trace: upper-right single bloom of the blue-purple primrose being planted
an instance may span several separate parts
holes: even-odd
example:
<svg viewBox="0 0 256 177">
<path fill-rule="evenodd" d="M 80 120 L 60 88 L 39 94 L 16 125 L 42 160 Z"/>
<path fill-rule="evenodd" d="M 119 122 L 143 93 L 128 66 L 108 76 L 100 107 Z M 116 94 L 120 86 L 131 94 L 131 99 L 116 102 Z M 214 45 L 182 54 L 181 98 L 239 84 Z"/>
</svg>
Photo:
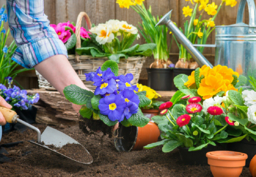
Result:
<svg viewBox="0 0 256 177">
<path fill-rule="evenodd" d="M 131 85 L 132 79 L 134 79 L 134 75 L 132 75 L 131 73 L 126 74 L 126 76 L 124 75 L 119 76 L 119 80 L 120 80 L 118 82 L 119 91 L 124 89 L 138 91 L 139 88 L 137 88 L 136 85 Z"/>
</svg>

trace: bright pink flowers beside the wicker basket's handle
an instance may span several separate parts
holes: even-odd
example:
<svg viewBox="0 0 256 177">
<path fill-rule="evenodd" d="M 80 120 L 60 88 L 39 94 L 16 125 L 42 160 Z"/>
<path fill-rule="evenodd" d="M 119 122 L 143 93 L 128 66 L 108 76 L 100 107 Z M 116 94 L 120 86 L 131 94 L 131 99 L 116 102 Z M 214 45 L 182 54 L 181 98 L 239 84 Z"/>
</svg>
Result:
<svg viewBox="0 0 256 177">
<path fill-rule="evenodd" d="M 58 37 L 60 40 L 62 40 L 63 43 L 66 43 L 67 40 L 71 37 L 71 34 L 74 34 L 76 32 L 76 26 L 74 23 L 70 23 L 67 21 L 66 23 L 58 23 L 58 25 L 51 24 L 52 28 L 54 28 L 56 34 L 58 34 Z M 67 29 L 68 27 L 68 29 Z M 80 28 L 80 36 L 84 39 L 90 38 L 89 37 L 90 32 L 87 32 L 84 27 Z"/>
</svg>

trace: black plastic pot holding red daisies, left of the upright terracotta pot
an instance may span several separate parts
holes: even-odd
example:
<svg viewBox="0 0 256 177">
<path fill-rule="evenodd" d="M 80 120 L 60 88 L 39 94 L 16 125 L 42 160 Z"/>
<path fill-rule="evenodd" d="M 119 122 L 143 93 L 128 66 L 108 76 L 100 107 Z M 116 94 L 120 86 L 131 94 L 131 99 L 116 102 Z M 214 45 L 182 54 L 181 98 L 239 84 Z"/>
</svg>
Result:
<svg viewBox="0 0 256 177">
<path fill-rule="evenodd" d="M 189 151 L 187 147 L 179 147 L 178 149 L 180 150 L 180 158 L 185 165 L 208 165 L 207 152 L 225 150 L 221 145 L 207 145 L 200 151 Z"/>
</svg>

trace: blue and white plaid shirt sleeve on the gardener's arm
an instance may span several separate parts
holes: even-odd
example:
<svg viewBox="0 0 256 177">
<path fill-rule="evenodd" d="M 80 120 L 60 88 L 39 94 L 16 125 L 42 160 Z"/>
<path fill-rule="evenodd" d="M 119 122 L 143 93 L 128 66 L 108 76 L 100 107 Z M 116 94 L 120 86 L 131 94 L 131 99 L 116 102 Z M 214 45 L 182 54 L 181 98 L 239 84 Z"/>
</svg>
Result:
<svg viewBox="0 0 256 177">
<path fill-rule="evenodd" d="M 7 0 L 9 28 L 17 49 L 12 60 L 25 68 L 55 56 L 67 56 L 64 43 L 44 14 L 43 0 Z"/>
</svg>

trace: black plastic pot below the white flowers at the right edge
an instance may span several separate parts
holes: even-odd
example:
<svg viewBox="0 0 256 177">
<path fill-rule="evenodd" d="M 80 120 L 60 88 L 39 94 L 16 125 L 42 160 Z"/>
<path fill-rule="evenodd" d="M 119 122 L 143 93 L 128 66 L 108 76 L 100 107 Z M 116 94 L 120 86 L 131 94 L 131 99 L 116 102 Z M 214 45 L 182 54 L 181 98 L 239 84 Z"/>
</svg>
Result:
<svg viewBox="0 0 256 177">
<path fill-rule="evenodd" d="M 249 167 L 251 159 L 256 155 L 256 141 L 248 141 L 244 139 L 235 143 L 227 143 L 226 149 L 227 151 L 242 152 L 247 154 L 248 158 L 246 159 L 246 167 Z"/>
</svg>

